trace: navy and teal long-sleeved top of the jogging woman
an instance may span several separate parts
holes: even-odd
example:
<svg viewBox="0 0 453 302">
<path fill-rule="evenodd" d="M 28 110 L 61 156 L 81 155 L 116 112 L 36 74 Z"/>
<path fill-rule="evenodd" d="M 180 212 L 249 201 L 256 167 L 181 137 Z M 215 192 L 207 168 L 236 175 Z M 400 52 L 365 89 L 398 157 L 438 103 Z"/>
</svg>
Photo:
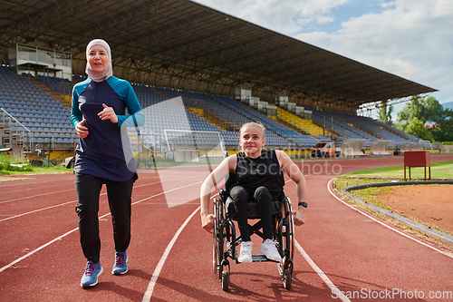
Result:
<svg viewBox="0 0 453 302">
<path fill-rule="evenodd" d="M 118 123 L 101 120 L 98 113 L 103 110 L 102 103 L 113 108 Z M 127 127 L 142 126 L 145 117 L 130 83 L 111 76 L 99 83 L 87 79 L 75 84 L 72 125 L 83 119 L 89 134 L 77 145 L 74 172 L 114 181 L 130 180 L 132 176 L 137 179 Z"/>
</svg>

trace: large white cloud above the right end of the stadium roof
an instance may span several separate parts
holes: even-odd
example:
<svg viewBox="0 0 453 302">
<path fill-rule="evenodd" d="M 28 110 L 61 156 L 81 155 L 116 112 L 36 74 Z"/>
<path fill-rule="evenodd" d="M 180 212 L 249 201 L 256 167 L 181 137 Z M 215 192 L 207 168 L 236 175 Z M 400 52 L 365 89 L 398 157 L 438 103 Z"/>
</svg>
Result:
<svg viewBox="0 0 453 302">
<path fill-rule="evenodd" d="M 438 89 L 439 102 L 453 101 L 453 2 L 396 0 L 385 7 L 343 22 L 333 34 L 295 38 Z"/>
</svg>

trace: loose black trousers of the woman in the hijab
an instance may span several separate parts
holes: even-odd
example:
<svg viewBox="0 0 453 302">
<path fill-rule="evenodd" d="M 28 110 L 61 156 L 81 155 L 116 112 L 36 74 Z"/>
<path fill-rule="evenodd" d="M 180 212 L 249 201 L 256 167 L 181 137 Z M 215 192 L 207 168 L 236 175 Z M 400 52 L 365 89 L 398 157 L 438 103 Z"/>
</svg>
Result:
<svg viewBox="0 0 453 302">
<path fill-rule="evenodd" d="M 123 182 L 104 180 L 88 174 L 75 173 L 75 190 L 79 203 L 75 211 L 79 215 L 79 233 L 83 255 L 87 260 L 99 262 L 101 239 L 99 238 L 99 195 L 106 184 L 115 250 L 123 252 L 130 243 L 131 195 L 133 177 Z"/>
</svg>

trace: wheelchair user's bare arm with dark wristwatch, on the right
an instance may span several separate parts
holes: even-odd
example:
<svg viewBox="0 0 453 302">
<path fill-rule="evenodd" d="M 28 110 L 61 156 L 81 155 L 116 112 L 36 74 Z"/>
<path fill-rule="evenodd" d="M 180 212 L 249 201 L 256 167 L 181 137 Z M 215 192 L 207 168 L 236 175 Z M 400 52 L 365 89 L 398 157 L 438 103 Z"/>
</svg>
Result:
<svg viewBox="0 0 453 302">
<path fill-rule="evenodd" d="M 276 150 L 275 153 L 277 154 L 278 162 L 280 162 L 280 166 L 282 170 L 288 176 L 294 180 L 295 188 L 297 191 L 297 199 L 298 202 L 306 201 L 306 191 L 307 191 L 307 184 L 304 178 L 304 174 L 302 174 L 301 170 L 295 165 L 293 161 L 289 158 L 289 156 L 284 151 Z M 297 210 L 293 210 L 292 214 L 294 215 L 294 223 L 296 226 L 303 225 L 305 222 L 305 208 L 303 206 L 298 206 Z"/>
</svg>

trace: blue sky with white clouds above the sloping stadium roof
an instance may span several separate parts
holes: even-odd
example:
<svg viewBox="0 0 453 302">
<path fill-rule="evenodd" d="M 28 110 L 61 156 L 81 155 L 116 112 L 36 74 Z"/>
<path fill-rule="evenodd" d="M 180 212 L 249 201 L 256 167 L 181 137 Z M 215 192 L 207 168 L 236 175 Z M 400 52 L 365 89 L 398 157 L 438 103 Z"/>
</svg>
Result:
<svg viewBox="0 0 453 302">
<path fill-rule="evenodd" d="M 437 89 L 429 95 L 453 102 L 453 0 L 195 2 Z M 403 107 L 394 105 L 393 120 Z"/>
</svg>

